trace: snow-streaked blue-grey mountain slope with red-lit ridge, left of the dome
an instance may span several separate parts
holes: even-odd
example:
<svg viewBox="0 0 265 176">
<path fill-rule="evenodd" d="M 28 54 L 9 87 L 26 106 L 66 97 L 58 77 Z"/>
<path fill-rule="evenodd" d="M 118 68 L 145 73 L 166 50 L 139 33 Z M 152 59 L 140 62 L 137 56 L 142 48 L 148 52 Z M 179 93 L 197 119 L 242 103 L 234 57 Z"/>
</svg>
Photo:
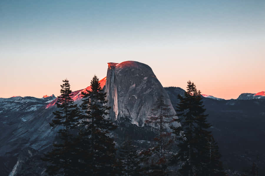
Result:
<svg viewBox="0 0 265 176">
<path fill-rule="evenodd" d="M 102 87 L 105 82 L 106 78 L 100 81 Z M 80 103 L 82 91 L 85 89 L 72 92 L 75 102 Z M 50 150 L 56 141 L 56 129 L 49 125 L 54 118 L 52 112 L 56 111 L 56 101 L 54 95 L 0 98 L 1 175 L 45 174 L 40 155 Z"/>
</svg>

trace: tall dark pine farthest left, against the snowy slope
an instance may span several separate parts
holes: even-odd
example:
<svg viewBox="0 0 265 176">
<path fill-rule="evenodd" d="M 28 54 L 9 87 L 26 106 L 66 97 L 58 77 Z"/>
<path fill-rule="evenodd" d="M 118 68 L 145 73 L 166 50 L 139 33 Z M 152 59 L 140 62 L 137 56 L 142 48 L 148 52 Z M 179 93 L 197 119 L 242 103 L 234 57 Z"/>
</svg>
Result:
<svg viewBox="0 0 265 176">
<path fill-rule="evenodd" d="M 61 95 L 57 99 L 57 111 L 53 112 L 54 120 L 50 123 L 53 128 L 59 128 L 61 141 L 54 143 L 53 150 L 45 154 L 43 161 L 48 162 L 46 172 L 48 175 L 75 175 L 73 136 L 70 130 L 77 128 L 79 110 L 71 98 L 72 91 L 67 79 L 61 85 Z"/>
</svg>

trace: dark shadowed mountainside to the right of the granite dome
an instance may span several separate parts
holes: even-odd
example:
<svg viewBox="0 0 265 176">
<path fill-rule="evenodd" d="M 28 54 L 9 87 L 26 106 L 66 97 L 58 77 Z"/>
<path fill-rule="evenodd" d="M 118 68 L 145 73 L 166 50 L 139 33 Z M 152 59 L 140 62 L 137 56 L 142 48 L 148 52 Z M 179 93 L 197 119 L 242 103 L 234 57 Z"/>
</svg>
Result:
<svg viewBox="0 0 265 176">
<path fill-rule="evenodd" d="M 179 87 L 166 87 L 165 90 L 176 107 L 177 95 L 184 90 Z M 265 165 L 265 99 L 219 101 L 203 97 L 203 105 L 226 169 L 251 170 L 251 163 L 256 162 L 257 156 L 260 165 Z M 259 172 L 265 175 L 265 167 L 260 167 Z"/>
</svg>

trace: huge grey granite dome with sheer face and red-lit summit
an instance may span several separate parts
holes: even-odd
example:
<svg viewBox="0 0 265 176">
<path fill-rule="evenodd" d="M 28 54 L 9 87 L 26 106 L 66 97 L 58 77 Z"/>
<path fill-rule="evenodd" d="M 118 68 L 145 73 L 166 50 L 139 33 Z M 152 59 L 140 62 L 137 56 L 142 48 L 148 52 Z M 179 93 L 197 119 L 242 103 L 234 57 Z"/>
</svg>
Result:
<svg viewBox="0 0 265 176">
<path fill-rule="evenodd" d="M 154 112 L 152 109 L 160 94 L 164 95 L 165 104 L 169 105 L 168 115 L 176 114 L 167 92 L 152 69 L 140 62 L 108 63 L 105 91 L 108 106 L 111 106 L 109 117 L 113 120 L 127 117 L 131 123 L 144 126 L 145 120 Z"/>
</svg>

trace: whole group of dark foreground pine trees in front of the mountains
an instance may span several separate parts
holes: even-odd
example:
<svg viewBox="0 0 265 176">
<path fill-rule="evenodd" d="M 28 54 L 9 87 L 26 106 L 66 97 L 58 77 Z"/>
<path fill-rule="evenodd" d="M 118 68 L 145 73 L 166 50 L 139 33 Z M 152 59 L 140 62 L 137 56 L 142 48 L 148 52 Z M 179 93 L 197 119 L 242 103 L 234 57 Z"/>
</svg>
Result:
<svg viewBox="0 0 265 176">
<path fill-rule="evenodd" d="M 145 121 L 158 131 L 153 143 L 141 150 L 129 136 L 121 146 L 115 145 L 113 131 L 118 125 L 105 118 L 110 107 L 97 76 L 91 80 L 91 90 L 82 92 L 80 106 L 71 98 L 67 79 L 61 87 L 50 123 L 58 129 L 60 140 L 42 158 L 47 175 L 225 175 L 201 92 L 193 82 L 188 81 L 187 92 L 179 95 L 178 119 L 168 115 L 169 105 L 160 94 L 152 116 Z M 181 126 L 171 125 L 169 130 L 167 126 L 174 121 Z"/>
</svg>

